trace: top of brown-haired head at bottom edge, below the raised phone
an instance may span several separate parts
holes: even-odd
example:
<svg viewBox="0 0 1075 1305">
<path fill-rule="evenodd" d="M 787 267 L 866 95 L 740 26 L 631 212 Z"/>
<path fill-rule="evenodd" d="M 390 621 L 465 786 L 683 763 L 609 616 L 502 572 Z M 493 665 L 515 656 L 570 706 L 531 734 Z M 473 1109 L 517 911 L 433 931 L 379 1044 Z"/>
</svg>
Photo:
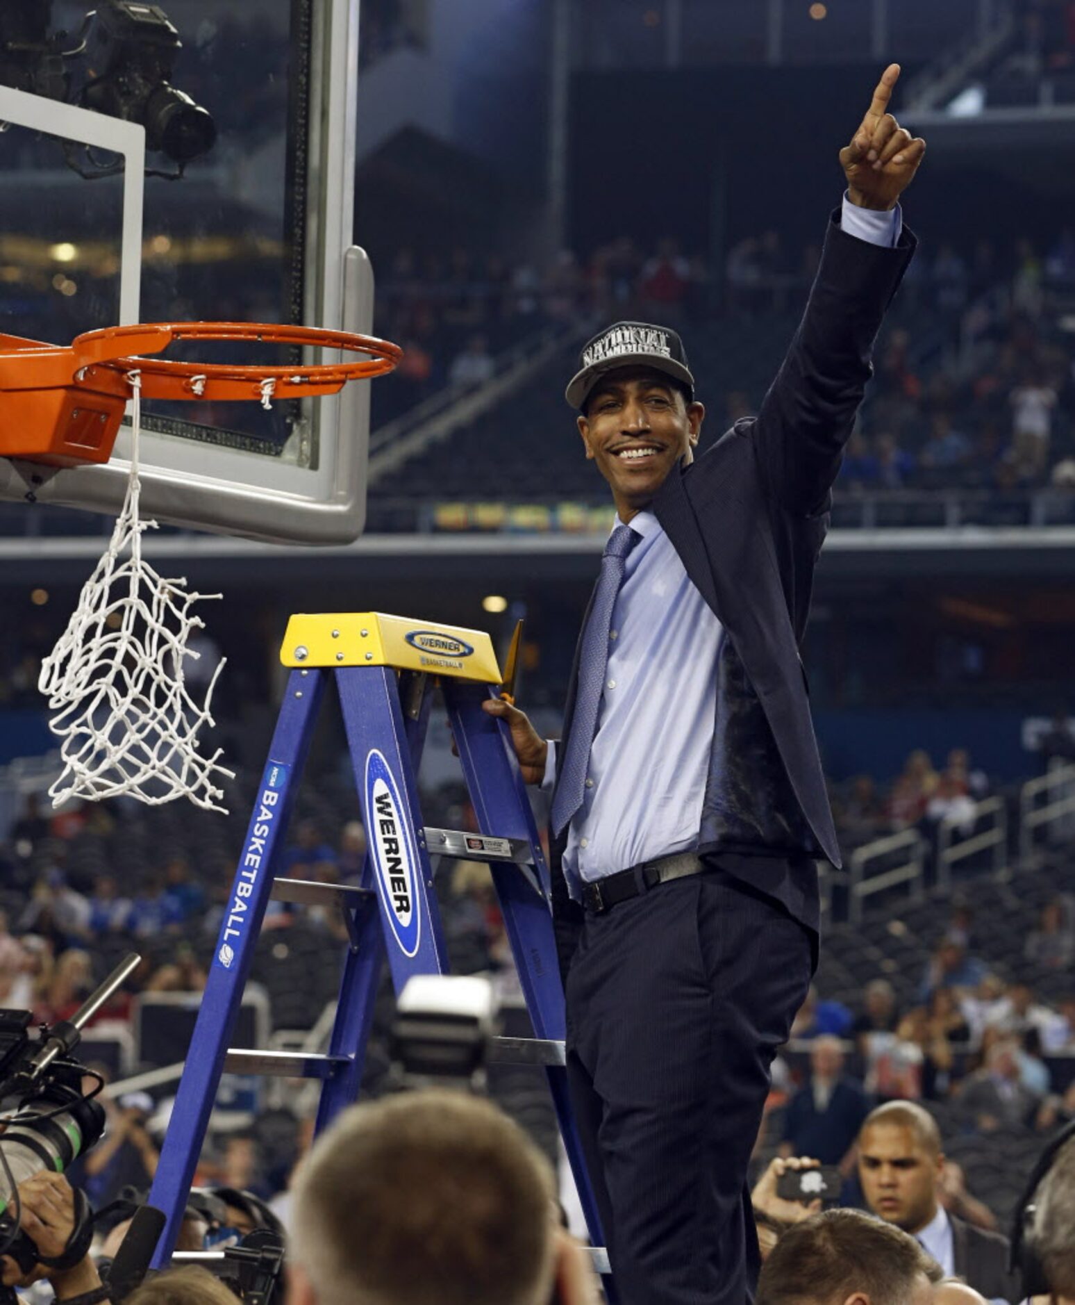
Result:
<svg viewBox="0 0 1075 1305">
<path fill-rule="evenodd" d="M 770 1251 L 754 1305 L 930 1305 L 922 1248 L 858 1210 L 789 1228 Z"/>
</svg>

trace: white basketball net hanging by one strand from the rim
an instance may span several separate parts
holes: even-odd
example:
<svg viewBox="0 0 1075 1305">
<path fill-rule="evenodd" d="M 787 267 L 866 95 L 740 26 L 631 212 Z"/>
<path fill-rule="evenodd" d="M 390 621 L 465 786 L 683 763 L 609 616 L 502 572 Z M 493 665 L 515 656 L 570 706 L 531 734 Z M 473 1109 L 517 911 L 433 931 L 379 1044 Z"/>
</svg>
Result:
<svg viewBox="0 0 1075 1305">
<path fill-rule="evenodd" d="M 150 805 L 189 797 L 223 812 L 222 776 L 234 771 L 198 752 L 198 733 L 214 726 L 209 713 L 213 672 L 198 706 L 187 686 L 187 647 L 204 629 L 192 608 L 220 594 L 190 594 L 185 579 L 164 579 L 142 559 L 142 531 L 155 521 L 138 517 L 141 376 L 133 392 L 130 482 L 104 556 L 86 581 L 78 606 L 56 647 L 42 663 L 38 688 L 55 713 L 50 728 L 61 740 L 64 771 L 48 790 L 53 806 L 70 797 L 99 801 L 129 793 Z"/>
</svg>

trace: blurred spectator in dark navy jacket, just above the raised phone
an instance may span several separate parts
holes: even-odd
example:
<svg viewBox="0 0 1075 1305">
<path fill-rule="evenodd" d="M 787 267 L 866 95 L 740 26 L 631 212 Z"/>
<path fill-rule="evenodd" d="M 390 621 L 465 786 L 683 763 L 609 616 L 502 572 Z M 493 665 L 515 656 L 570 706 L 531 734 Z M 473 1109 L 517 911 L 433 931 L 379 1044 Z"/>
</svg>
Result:
<svg viewBox="0 0 1075 1305">
<path fill-rule="evenodd" d="M 851 1168 L 851 1151 L 869 1103 L 862 1084 L 844 1074 L 839 1037 L 823 1034 L 810 1048 L 810 1077 L 788 1103 L 780 1155 L 817 1156 Z"/>
</svg>

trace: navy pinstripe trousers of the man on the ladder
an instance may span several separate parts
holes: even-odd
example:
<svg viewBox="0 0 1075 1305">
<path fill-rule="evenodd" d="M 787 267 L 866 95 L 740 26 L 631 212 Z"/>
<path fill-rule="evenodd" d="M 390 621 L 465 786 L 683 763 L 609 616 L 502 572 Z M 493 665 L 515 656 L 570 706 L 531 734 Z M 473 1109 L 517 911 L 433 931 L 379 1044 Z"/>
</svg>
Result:
<svg viewBox="0 0 1075 1305">
<path fill-rule="evenodd" d="M 720 869 L 586 916 L 568 1075 L 624 1305 L 744 1305 L 746 1171 L 806 996 L 808 929 Z"/>
</svg>

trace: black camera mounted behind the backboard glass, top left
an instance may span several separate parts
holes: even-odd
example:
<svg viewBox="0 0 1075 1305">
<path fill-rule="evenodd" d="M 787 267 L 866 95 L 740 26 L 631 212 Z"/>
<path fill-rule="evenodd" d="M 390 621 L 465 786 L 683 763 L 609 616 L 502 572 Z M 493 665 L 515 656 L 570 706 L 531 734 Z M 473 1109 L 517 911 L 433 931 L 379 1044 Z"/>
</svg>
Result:
<svg viewBox="0 0 1075 1305">
<path fill-rule="evenodd" d="M 141 123 L 146 146 L 179 166 L 207 154 L 217 124 L 207 110 L 171 85 L 179 31 L 157 4 L 98 0 L 77 34 L 52 30 L 52 0 L 0 4 L 0 85 Z M 68 142 L 68 164 L 86 177 L 117 166 Z M 160 175 L 160 174 L 157 174 Z"/>
</svg>

